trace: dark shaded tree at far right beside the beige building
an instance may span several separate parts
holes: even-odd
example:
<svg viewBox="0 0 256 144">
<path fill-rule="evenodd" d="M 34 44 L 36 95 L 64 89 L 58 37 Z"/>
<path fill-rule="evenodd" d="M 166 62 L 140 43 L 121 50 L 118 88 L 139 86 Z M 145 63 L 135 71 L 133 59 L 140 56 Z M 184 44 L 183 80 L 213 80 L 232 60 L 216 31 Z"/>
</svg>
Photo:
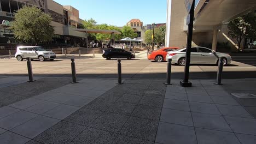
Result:
<svg viewBox="0 0 256 144">
<path fill-rule="evenodd" d="M 252 33 L 253 27 L 250 23 L 249 15 L 244 15 L 231 20 L 228 24 L 229 36 L 236 39 L 238 44 L 238 52 L 240 52 L 241 42 L 248 34 Z"/>
</svg>

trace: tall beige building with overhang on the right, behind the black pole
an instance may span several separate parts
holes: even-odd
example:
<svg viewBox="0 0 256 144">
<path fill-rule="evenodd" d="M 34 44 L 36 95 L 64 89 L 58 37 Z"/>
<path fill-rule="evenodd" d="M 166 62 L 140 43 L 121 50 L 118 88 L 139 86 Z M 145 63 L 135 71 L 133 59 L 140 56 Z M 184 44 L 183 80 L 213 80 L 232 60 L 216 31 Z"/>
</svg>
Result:
<svg viewBox="0 0 256 144">
<path fill-rule="evenodd" d="M 218 51 L 229 47 L 229 51 L 237 51 L 236 40 L 228 37 L 227 24 L 238 16 L 255 11 L 255 8 L 255 0 L 243 3 L 231 0 L 196 0 L 193 45 Z M 184 1 L 167 0 L 165 46 L 187 46 L 187 16 Z M 245 45 L 242 44 L 241 47 L 243 46 Z"/>
</svg>

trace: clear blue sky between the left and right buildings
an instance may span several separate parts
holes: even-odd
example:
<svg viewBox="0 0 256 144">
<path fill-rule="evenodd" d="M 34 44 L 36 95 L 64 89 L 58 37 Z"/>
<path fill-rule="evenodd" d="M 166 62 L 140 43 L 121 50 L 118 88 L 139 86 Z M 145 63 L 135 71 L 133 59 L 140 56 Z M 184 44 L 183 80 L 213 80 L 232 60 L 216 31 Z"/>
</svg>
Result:
<svg viewBox="0 0 256 144">
<path fill-rule="evenodd" d="M 165 23 L 167 1 L 158 0 L 54 0 L 79 10 L 80 19 L 94 19 L 97 24 L 124 26 L 131 19 L 140 19 L 143 25 Z"/>
</svg>

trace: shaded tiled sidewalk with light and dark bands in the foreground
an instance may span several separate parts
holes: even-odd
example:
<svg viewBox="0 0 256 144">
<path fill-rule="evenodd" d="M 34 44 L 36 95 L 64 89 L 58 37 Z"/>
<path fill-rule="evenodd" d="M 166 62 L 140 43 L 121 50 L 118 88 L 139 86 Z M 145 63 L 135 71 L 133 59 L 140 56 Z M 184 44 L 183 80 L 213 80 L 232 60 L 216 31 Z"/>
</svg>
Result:
<svg viewBox="0 0 256 144">
<path fill-rule="evenodd" d="M 256 79 L 0 77 L 0 143 L 256 143 Z M 23 82 L 22 82 L 23 81 Z"/>
</svg>

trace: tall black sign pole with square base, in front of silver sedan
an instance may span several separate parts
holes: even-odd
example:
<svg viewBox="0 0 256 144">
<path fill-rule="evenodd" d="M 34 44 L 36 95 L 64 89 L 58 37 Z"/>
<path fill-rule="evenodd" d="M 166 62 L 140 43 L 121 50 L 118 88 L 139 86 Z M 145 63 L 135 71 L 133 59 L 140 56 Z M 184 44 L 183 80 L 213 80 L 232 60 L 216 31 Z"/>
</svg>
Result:
<svg viewBox="0 0 256 144">
<path fill-rule="evenodd" d="M 185 0 L 185 5 L 189 11 L 189 23 L 188 23 L 188 38 L 187 38 L 187 49 L 186 49 L 186 63 L 184 68 L 184 79 L 183 81 L 180 82 L 180 84 L 182 87 L 191 87 L 192 83 L 189 82 L 189 67 L 190 67 L 191 43 L 192 43 L 192 36 L 193 36 L 195 1 L 191 3 L 190 0 Z"/>
</svg>

